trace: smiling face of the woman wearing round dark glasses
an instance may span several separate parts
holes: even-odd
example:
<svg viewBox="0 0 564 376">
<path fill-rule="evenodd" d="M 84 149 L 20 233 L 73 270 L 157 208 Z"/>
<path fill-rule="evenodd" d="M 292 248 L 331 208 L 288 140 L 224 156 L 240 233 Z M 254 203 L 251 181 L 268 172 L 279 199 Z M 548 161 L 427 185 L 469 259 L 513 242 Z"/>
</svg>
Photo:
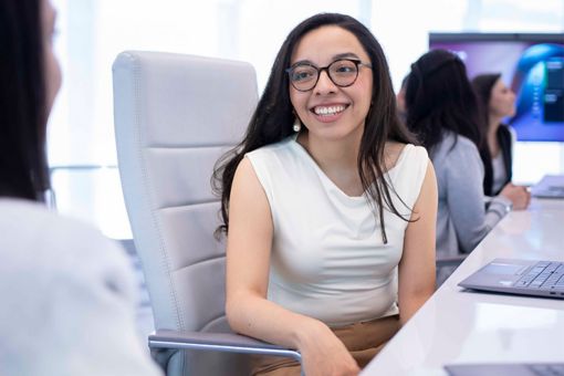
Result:
<svg viewBox="0 0 564 376">
<path fill-rule="evenodd" d="M 302 36 L 293 51 L 291 66 L 299 62 L 327 66 L 338 59 L 372 64 L 353 33 L 326 25 Z M 372 102 L 373 72 L 369 67 L 359 65 L 356 81 L 347 87 L 335 85 L 327 71 L 323 71 L 311 91 L 300 92 L 291 84 L 289 90 L 294 111 L 307 127 L 310 138 L 336 140 L 353 135 L 358 139 L 362 137 Z"/>
</svg>

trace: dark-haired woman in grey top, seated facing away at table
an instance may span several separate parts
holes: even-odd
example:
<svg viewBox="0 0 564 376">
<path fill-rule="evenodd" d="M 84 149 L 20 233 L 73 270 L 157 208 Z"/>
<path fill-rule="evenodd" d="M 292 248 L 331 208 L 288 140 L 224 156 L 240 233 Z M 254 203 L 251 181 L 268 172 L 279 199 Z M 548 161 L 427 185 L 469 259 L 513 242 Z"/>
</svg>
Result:
<svg viewBox="0 0 564 376">
<path fill-rule="evenodd" d="M 481 116 L 463 62 L 445 50 L 424 54 L 411 65 L 406 105 L 407 126 L 437 173 L 437 255 L 471 252 L 511 210 L 513 192 L 503 189 L 484 209 Z"/>
</svg>

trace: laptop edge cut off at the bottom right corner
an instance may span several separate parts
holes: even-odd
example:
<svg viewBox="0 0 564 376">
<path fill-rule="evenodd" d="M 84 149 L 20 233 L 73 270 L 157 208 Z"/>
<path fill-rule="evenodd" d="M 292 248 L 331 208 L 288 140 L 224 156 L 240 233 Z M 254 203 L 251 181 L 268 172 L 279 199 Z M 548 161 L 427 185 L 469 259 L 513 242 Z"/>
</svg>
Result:
<svg viewBox="0 0 564 376">
<path fill-rule="evenodd" d="M 450 376 L 564 376 L 564 363 L 453 364 L 445 369 Z"/>
</svg>

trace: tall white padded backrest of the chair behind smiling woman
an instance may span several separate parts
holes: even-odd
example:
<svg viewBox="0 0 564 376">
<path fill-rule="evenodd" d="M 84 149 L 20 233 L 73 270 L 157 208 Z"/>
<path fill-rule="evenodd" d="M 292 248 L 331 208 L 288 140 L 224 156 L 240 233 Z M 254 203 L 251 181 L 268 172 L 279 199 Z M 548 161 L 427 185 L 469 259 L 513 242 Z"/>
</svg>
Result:
<svg viewBox="0 0 564 376">
<path fill-rule="evenodd" d="M 210 178 L 218 158 L 242 139 L 255 108 L 254 69 L 128 51 L 116 58 L 113 74 L 119 174 L 155 327 L 229 331 L 224 244 L 213 237 L 219 199 Z M 221 365 L 226 357 L 175 354 L 167 374 L 212 375 L 213 367 L 231 367 Z"/>
</svg>

